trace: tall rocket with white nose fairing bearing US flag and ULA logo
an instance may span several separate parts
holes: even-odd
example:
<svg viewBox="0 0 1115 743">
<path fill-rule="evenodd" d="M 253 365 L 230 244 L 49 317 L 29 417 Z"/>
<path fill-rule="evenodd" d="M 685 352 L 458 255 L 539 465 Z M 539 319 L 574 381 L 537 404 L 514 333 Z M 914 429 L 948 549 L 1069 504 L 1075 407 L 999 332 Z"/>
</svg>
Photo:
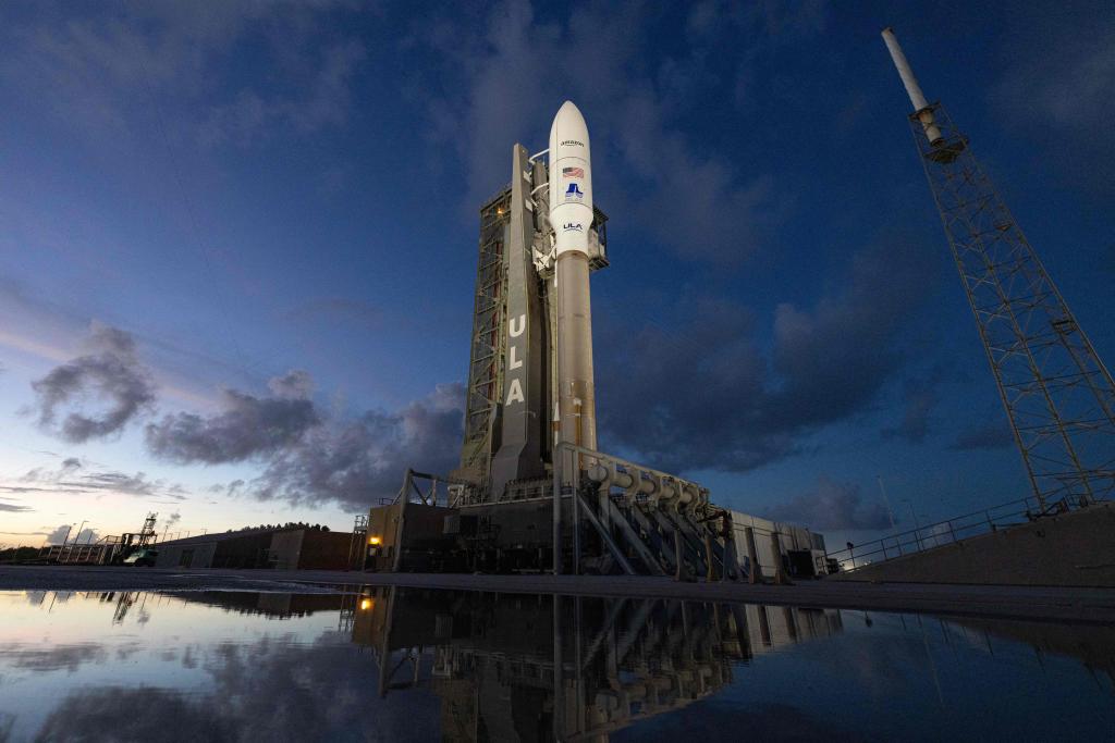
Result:
<svg viewBox="0 0 1115 743">
<path fill-rule="evenodd" d="M 597 449 L 589 294 L 592 156 L 589 127 L 572 101 L 550 127 L 550 224 L 555 234 L 558 419 L 562 442 Z"/>
</svg>

